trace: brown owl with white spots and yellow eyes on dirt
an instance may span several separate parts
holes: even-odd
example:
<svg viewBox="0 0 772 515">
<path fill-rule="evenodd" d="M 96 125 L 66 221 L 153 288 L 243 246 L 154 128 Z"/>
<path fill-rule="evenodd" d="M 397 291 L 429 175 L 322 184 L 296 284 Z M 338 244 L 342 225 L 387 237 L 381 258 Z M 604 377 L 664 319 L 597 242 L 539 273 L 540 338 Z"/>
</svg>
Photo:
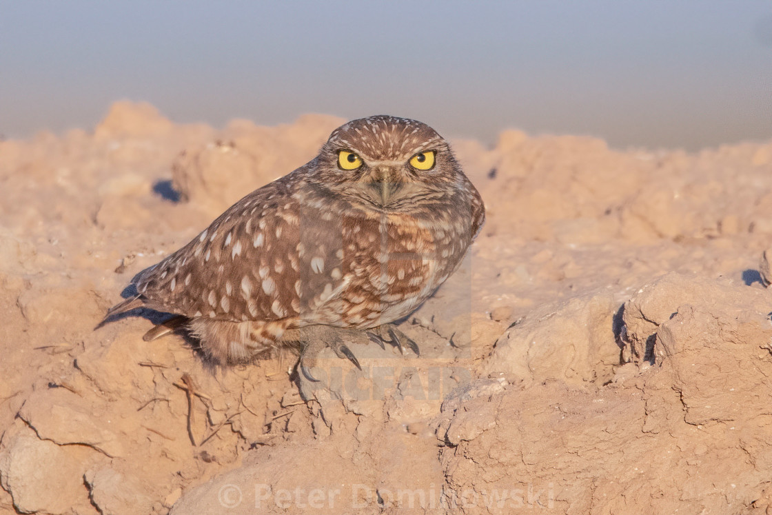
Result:
<svg viewBox="0 0 772 515">
<path fill-rule="evenodd" d="M 340 330 L 417 352 L 390 324 L 453 273 L 484 219 L 478 191 L 431 127 L 350 121 L 308 164 L 137 274 L 137 296 L 107 317 L 138 307 L 174 313 L 145 339 L 183 326 L 221 364 L 327 339 L 358 366 Z"/>
</svg>

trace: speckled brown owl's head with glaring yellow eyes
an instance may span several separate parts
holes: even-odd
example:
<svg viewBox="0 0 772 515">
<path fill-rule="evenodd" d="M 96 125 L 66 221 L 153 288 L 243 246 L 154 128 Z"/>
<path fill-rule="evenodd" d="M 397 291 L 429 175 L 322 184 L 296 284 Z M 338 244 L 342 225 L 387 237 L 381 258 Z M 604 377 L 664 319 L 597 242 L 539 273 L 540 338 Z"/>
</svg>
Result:
<svg viewBox="0 0 772 515">
<path fill-rule="evenodd" d="M 338 127 L 315 161 L 310 181 L 377 208 L 442 195 L 466 180 L 448 142 L 432 127 L 387 115 Z"/>
</svg>

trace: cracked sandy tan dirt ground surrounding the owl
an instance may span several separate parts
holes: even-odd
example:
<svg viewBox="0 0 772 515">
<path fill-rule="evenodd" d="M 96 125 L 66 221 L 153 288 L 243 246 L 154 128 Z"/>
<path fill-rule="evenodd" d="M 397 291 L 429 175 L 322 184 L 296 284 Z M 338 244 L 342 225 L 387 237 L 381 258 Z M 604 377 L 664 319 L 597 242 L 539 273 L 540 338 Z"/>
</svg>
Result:
<svg viewBox="0 0 772 515">
<path fill-rule="evenodd" d="M 0 142 L 0 510 L 772 512 L 772 143 L 455 141 L 488 222 L 401 325 L 420 358 L 359 344 L 314 384 L 291 356 L 212 370 L 143 317 L 94 330 L 342 121 L 116 103 Z"/>
</svg>

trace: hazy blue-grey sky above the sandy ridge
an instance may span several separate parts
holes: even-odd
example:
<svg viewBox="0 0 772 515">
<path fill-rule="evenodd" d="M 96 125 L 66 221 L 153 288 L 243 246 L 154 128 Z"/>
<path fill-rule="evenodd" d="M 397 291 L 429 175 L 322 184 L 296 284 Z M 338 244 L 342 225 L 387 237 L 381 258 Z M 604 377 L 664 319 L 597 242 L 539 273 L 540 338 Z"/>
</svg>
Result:
<svg viewBox="0 0 772 515">
<path fill-rule="evenodd" d="M 772 137 L 770 0 L 0 0 L 0 134 L 396 114 L 449 137 L 593 134 L 690 149 Z"/>
</svg>

